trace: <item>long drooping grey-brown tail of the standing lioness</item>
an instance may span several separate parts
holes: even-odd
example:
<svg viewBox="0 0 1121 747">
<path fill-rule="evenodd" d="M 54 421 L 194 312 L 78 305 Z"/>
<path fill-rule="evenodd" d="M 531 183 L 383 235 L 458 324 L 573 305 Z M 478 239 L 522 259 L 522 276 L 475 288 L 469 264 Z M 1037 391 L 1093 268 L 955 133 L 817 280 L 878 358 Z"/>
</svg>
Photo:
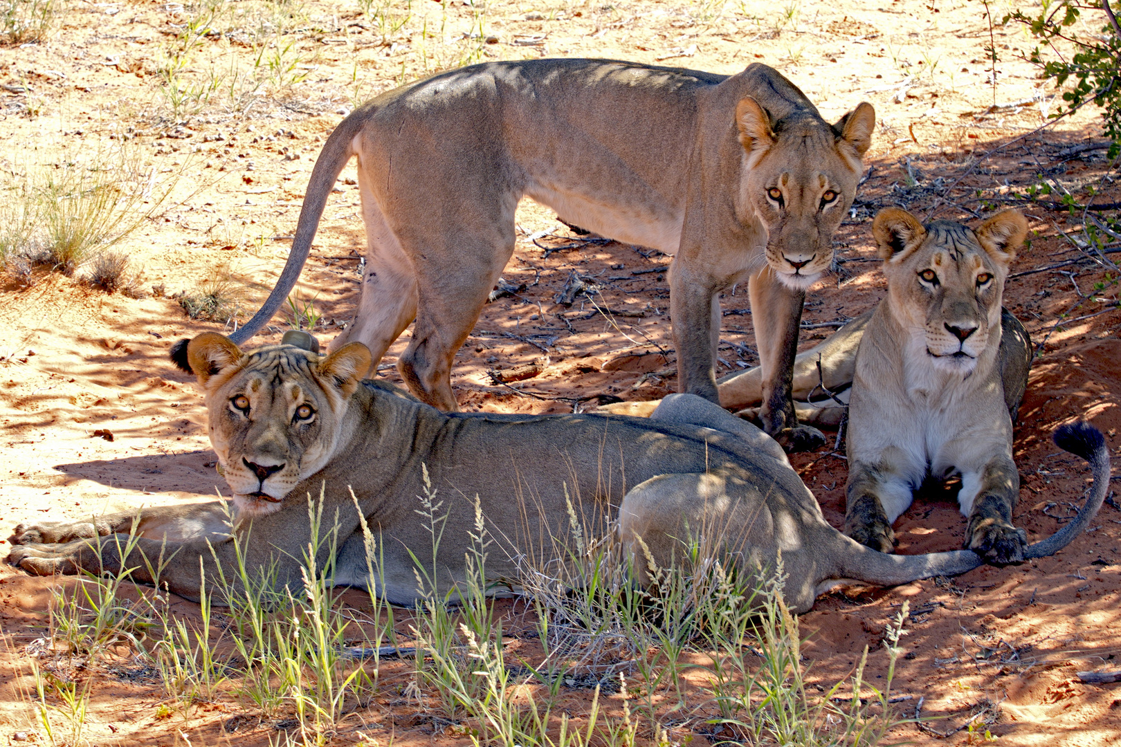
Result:
<svg viewBox="0 0 1121 747">
<path fill-rule="evenodd" d="M 315 168 L 312 169 L 307 190 L 304 193 L 304 206 L 299 211 L 299 222 L 296 224 L 296 235 L 291 242 L 288 261 L 285 262 L 284 270 L 280 272 L 272 292 L 265 299 L 265 304 L 253 315 L 253 318 L 230 335 L 230 339 L 235 344 L 240 345 L 245 342 L 268 324 L 272 315 L 288 298 L 296 280 L 299 279 L 307 255 L 312 251 L 312 240 L 315 239 L 315 232 L 319 227 L 319 218 L 327 205 L 331 189 L 334 187 L 339 174 L 346 166 L 346 161 L 354 155 L 351 143 L 361 124 L 362 116 L 359 112 L 352 113 L 339 123 L 339 127 L 323 144 L 323 150 L 319 151 L 319 157 L 315 160 Z"/>
</svg>

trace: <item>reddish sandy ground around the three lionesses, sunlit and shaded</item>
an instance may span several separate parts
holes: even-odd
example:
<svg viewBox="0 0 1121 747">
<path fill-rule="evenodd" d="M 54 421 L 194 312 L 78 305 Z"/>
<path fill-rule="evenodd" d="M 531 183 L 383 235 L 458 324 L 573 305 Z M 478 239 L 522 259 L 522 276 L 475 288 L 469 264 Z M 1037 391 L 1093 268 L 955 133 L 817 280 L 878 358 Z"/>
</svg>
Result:
<svg viewBox="0 0 1121 747">
<path fill-rule="evenodd" d="M 664 64 L 728 73 L 761 60 L 803 86 L 831 119 L 861 100 L 871 101 L 880 122 L 868 158 L 871 176 L 861 188 L 854 220 L 837 236 L 842 273 L 809 295 L 804 319 L 812 325 L 854 316 L 882 295 L 869 231 L 879 207 L 904 205 L 919 215 L 965 221 L 994 207 L 1023 207 L 1031 221 L 1031 246 L 1017 261 L 1006 304 L 1027 325 L 1038 357 L 1016 432 L 1022 487 L 1015 521 L 1029 538 L 1048 534 L 1069 515 L 1069 503 L 1081 499 L 1087 484 L 1085 466 L 1055 448 L 1050 432 L 1086 418 L 1108 435 L 1118 454 L 1121 312 L 1115 273 L 1081 261 L 1084 254 L 1060 235 L 1076 239 L 1081 218 L 1018 195 L 1043 172 L 1076 194 L 1084 185 L 1100 185 L 1100 202 L 1118 200 L 1115 183 L 1103 180 L 1103 151 L 1072 150 L 1101 140 L 1099 122 L 1086 111 L 1029 133 L 1059 103 L 1049 84 L 1016 59 L 1031 41 L 1013 27 L 994 31 L 1001 63 L 993 93 L 985 83 L 982 50 L 989 27 L 979 3 L 893 0 L 887 7 L 858 2 L 843 11 L 824 4 L 790 7 L 797 22 L 784 25 L 781 9 L 767 3 L 724 6 L 715 19 L 697 20 L 707 6 L 492 2 L 485 24 L 498 43 L 484 50 L 503 58 L 547 54 L 642 62 L 676 54 Z M 7 136 L 0 158 L 4 168 L 18 168 L 67 153 L 94 153 L 110 144 L 110 134 L 132 123 L 133 144 L 157 174 L 184 171 L 166 212 L 123 244 L 143 273 L 142 288 L 160 284 L 170 295 L 225 273 L 247 283 L 245 307 L 252 310 L 286 256 L 288 242 L 272 236 L 291 233 L 318 147 L 341 119 L 339 111 L 353 105 L 353 78 L 358 97 L 367 97 L 425 69 L 454 64 L 474 48 L 460 36 L 472 21 L 472 9 L 417 7 L 406 30 L 383 46 L 356 4 L 306 6 L 299 12 L 309 20 L 286 37 L 304 53 L 304 82 L 266 91 L 248 108 L 248 99 L 224 109 L 211 104 L 176 129 L 160 95 L 155 60 L 159 50 L 174 46 L 185 12 L 175 3 L 140 0 L 74 3 L 47 44 L 0 47 L 0 82 L 11 86 L 0 93 L 8 112 L 0 124 Z M 443 37 L 423 39 L 420 17 L 441 12 Z M 535 13 L 544 17 L 535 19 Z M 435 20 L 428 28 L 436 28 Z M 534 44 L 520 44 L 527 40 Z M 237 34 L 206 37 L 187 73 L 197 80 L 207 65 L 239 59 L 251 67 L 248 44 Z M 910 83 L 900 87 L 907 76 L 912 76 Z M 993 95 L 1002 106 L 990 109 Z M 176 137 L 184 134 L 191 137 Z M 216 134 L 223 140 L 213 140 Z M 290 160 L 293 156 L 298 158 Z M 327 325 L 317 329 L 324 342 L 336 324 L 350 318 L 358 284 L 354 250 L 362 241 L 356 188 L 340 186 L 342 194 L 332 197 L 302 281 Z M 567 235 L 564 227 L 552 213 L 529 204 L 519 225 L 518 250 L 504 278 L 526 288 L 488 306 L 461 351 L 453 374 L 461 407 L 568 412 L 594 404 L 591 398 L 600 394 L 641 400 L 673 391 L 668 288 L 664 273 L 651 272 L 669 259 L 615 243 L 545 256 L 528 234 L 550 228 Z M 550 246 L 564 243 L 571 242 L 543 240 Z M 555 295 L 574 271 L 595 280 L 602 293 L 596 304 L 641 315 L 612 320 L 583 297 L 571 308 L 556 305 Z M 1095 290 L 1095 283 L 1102 288 Z M 723 337 L 735 344 L 721 351 L 726 362 L 721 373 L 726 373 L 756 360 L 750 319 L 741 314 L 745 295 L 729 293 L 723 301 Z M 28 288 L 13 281 L 0 290 L 0 525 L 202 499 L 224 491 L 213 469 L 198 393 L 166 357 L 175 339 L 221 325 L 187 319 L 168 298 L 106 296 L 58 276 L 39 278 Z M 274 329 L 285 326 L 278 317 Z M 803 343 L 812 345 L 830 330 L 809 329 Z M 277 337 L 274 333 L 259 340 Z M 393 363 L 404 345 L 402 338 L 383 365 Z M 513 390 L 489 375 L 490 370 L 528 363 L 541 372 Z M 391 368 L 382 373 L 396 380 Z M 111 432 L 112 440 L 95 431 Z M 826 451 L 794 461 L 828 520 L 840 525 L 845 465 Z M 897 524 L 899 552 L 957 548 L 963 525 L 954 504 L 917 502 Z M 914 715 L 921 699 L 921 715 L 944 717 L 930 723 L 941 732 L 988 709 L 982 719 L 1001 745 L 1117 744 L 1121 685 L 1081 684 L 1076 672 L 1121 669 L 1119 536 L 1121 511 L 1106 505 L 1091 531 L 1054 558 L 981 568 L 945 582 L 826 596 L 800 620 L 808 635 L 804 654 L 813 662 L 810 680 L 828 687 L 844 678 L 868 645 L 869 676 L 877 682 L 886 673 L 883 626 L 908 600 L 909 635 L 902 644 L 908 653 L 895 682 L 897 692 L 910 695 L 899 703 L 902 715 Z M 55 582 L 0 570 L 6 641 L 0 737 L 28 730 L 28 708 L 21 702 L 30 687 L 25 647 L 43 635 L 47 589 Z M 194 606 L 176 603 L 175 608 L 191 615 Z M 225 702 L 202 706 L 186 722 L 157 719 L 154 708 L 161 691 L 152 682 L 99 676 L 87 719 L 93 744 L 170 744 L 180 730 L 193 744 L 265 744 L 275 734 L 274 725 L 252 718 L 232 735 L 222 731 L 222 723 L 243 712 Z M 395 671 L 386 665 L 386 692 L 407 676 L 407 666 Z M 564 697 L 573 712 L 586 710 L 586 691 Z M 618 700 L 605 702 L 618 712 Z M 696 744 L 705 741 L 696 725 L 703 703 L 698 708 L 684 715 L 693 721 L 676 721 L 673 739 L 692 735 Z M 452 732 L 434 736 L 430 722 L 417 712 L 402 700 L 376 702 L 348 719 L 335 739 L 356 741 L 358 729 L 381 744 L 466 743 Z M 900 727 L 893 737 L 923 745 L 980 739 L 964 730 L 941 738 L 914 725 Z"/>
</svg>

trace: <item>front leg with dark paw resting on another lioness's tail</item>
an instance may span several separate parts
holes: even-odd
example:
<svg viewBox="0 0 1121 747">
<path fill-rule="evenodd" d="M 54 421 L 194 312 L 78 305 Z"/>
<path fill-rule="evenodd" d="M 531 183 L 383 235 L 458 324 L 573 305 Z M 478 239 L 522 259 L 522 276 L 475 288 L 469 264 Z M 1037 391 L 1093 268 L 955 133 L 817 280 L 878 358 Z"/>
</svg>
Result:
<svg viewBox="0 0 1121 747">
<path fill-rule="evenodd" d="M 1019 492 L 1019 473 L 1006 455 L 993 457 L 981 471 L 962 475 L 957 503 L 969 516 L 964 547 L 986 563 L 1023 562 L 1027 534 L 1012 525 L 1012 508 Z"/>
</svg>

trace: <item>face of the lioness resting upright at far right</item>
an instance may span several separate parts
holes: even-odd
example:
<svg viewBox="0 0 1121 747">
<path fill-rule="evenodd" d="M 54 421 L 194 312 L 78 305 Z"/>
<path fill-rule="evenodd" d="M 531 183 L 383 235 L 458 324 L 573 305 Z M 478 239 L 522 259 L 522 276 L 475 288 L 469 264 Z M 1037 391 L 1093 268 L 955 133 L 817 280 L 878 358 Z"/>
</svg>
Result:
<svg viewBox="0 0 1121 747">
<path fill-rule="evenodd" d="M 1027 230 L 1016 211 L 975 232 L 948 221 L 924 226 L 897 207 L 876 216 L 891 314 L 935 370 L 969 374 L 986 348 L 1000 344 L 1004 278 Z"/>
</svg>

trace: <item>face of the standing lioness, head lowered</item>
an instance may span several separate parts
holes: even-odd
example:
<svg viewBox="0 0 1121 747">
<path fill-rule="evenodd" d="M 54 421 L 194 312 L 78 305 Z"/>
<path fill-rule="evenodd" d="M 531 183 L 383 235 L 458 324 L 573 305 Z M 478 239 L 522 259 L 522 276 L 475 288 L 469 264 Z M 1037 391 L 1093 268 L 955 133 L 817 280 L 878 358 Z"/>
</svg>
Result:
<svg viewBox="0 0 1121 747">
<path fill-rule="evenodd" d="M 855 197 L 876 111 L 862 103 L 833 127 L 807 114 L 775 130 L 749 96 L 735 114 L 747 175 L 741 212 L 767 227 L 765 254 L 776 277 L 805 290 L 833 263 L 833 234 Z"/>
</svg>

